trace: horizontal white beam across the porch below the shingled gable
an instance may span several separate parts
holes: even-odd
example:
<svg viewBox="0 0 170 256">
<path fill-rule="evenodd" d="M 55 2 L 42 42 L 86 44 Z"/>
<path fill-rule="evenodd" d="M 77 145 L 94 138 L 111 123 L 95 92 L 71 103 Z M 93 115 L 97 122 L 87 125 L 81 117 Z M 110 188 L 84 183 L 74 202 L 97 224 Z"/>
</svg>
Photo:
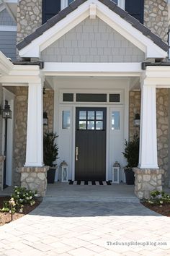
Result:
<svg viewBox="0 0 170 256">
<path fill-rule="evenodd" d="M 140 63 L 72 63 L 72 62 L 45 62 L 44 75 L 84 74 L 112 76 L 139 76 L 143 72 Z"/>
</svg>

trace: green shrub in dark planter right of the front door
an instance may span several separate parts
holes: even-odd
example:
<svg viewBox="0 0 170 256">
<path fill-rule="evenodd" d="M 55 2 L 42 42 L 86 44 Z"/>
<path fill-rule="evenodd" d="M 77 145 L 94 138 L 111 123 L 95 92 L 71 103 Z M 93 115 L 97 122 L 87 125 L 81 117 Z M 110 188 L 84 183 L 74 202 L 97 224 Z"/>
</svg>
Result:
<svg viewBox="0 0 170 256">
<path fill-rule="evenodd" d="M 135 183 L 135 175 L 133 167 L 138 166 L 139 161 L 139 137 L 133 136 L 133 140 L 125 140 L 125 152 L 122 153 L 127 159 L 128 165 L 125 166 L 126 184 L 133 185 Z"/>
</svg>

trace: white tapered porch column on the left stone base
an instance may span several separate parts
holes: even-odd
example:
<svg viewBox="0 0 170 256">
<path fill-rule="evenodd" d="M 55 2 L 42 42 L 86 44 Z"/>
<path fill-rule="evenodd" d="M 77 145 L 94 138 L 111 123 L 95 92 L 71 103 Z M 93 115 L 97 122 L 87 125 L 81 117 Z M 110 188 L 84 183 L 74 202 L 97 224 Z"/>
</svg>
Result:
<svg viewBox="0 0 170 256">
<path fill-rule="evenodd" d="M 43 166 L 42 82 L 29 83 L 27 151 L 24 166 Z"/>
</svg>

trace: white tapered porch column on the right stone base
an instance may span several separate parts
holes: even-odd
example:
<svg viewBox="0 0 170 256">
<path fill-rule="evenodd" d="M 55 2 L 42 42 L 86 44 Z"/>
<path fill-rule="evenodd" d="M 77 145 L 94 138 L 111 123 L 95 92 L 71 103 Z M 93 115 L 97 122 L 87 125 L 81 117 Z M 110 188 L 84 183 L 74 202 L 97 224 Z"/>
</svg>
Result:
<svg viewBox="0 0 170 256">
<path fill-rule="evenodd" d="M 156 85 L 141 81 L 139 168 L 158 168 L 156 136 Z"/>
</svg>

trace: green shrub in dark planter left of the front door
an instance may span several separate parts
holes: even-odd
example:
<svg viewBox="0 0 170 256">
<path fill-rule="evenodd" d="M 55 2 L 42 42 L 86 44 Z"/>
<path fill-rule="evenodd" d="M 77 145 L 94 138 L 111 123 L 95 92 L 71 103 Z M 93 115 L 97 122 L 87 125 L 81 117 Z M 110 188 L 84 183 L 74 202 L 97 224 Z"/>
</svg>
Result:
<svg viewBox="0 0 170 256">
<path fill-rule="evenodd" d="M 45 166 L 50 166 L 48 171 L 48 183 L 54 183 L 56 165 L 53 163 L 58 158 L 58 146 L 55 143 L 55 139 L 58 137 L 54 132 L 45 132 L 43 139 L 44 147 L 44 163 Z"/>
</svg>

